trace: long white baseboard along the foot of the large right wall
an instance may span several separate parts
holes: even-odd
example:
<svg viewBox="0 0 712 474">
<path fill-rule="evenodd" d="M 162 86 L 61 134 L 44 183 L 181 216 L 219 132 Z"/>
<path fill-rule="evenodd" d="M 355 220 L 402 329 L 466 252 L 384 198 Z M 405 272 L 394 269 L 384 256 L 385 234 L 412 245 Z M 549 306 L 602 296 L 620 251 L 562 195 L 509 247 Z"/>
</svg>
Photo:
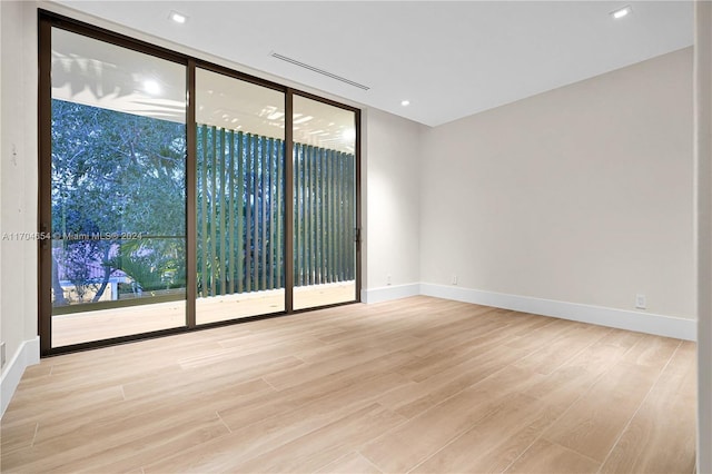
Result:
<svg viewBox="0 0 712 474">
<path fill-rule="evenodd" d="M 676 339 L 696 340 L 698 322 L 643 312 L 605 308 L 553 299 L 531 298 L 502 293 L 482 292 L 456 286 L 421 284 L 421 295 L 494 306 L 523 313 L 553 316 L 600 326 L 616 327 Z"/>
</svg>

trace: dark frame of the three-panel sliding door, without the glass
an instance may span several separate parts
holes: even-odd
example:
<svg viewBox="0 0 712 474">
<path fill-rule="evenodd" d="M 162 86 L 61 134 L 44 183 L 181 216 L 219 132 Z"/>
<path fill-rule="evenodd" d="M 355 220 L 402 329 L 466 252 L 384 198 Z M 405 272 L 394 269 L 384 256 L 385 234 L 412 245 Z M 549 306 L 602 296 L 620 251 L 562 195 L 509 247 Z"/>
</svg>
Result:
<svg viewBox="0 0 712 474">
<path fill-rule="evenodd" d="M 38 81 L 38 145 L 39 145 L 39 189 L 38 189 L 38 231 L 42 237 L 49 236 L 51 231 L 51 31 L 52 28 L 65 29 L 78 34 L 83 34 L 111 45 L 140 51 L 157 58 L 166 59 L 186 66 L 186 325 L 177 328 L 141 333 L 129 336 L 115 337 L 110 339 L 92 340 L 71 346 L 52 347 L 52 302 L 51 302 L 51 241 L 42 238 L 38 241 L 38 327 L 40 336 L 40 353 L 42 356 L 62 354 L 67 352 L 85 350 L 96 347 L 103 347 L 113 344 L 121 344 L 131 340 L 160 337 L 170 334 L 185 333 L 196 329 L 205 329 L 216 326 L 231 325 L 306 313 L 314 309 L 322 309 L 333 306 L 348 305 L 360 302 L 362 287 L 362 190 L 360 190 L 360 109 L 326 99 L 314 93 L 300 91 L 287 86 L 271 82 L 261 78 L 246 75 L 244 72 L 215 65 L 199 58 L 171 51 L 157 47 L 127 36 L 95 27 L 65 16 L 60 16 L 47 10 L 38 10 L 39 31 L 39 81 Z M 285 186 L 285 310 L 277 314 L 249 316 L 226 322 L 197 325 L 196 324 L 196 69 L 201 68 L 219 72 L 235 79 L 251 82 L 269 89 L 281 91 L 285 96 L 285 182 L 293 182 L 294 162 L 291 150 L 294 145 L 293 136 L 293 99 L 301 96 L 319 102 L 324 102 L 344 110 L 354 112 L 356 125 L 356 149 L 355 149 L 355 171 L 356 171 L 356 294 L 350 302 L 325 305 L 314 308 L 294 309 L 294 187 Z"/>
</svg>

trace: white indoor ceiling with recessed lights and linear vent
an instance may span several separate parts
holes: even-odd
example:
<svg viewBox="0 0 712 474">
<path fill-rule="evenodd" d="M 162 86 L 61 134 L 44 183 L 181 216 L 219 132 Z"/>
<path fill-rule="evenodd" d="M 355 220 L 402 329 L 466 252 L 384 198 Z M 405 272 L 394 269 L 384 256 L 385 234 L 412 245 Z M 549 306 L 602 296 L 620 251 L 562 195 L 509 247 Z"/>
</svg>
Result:
<svg viewBox="0 0 712 474">
<path fill-rule="evenodd" d="M 691 1 L 57 2 L 429 126 L 693 42 Z M 629 17 L 609 14 L 625 4 Z"/>
</svg>

